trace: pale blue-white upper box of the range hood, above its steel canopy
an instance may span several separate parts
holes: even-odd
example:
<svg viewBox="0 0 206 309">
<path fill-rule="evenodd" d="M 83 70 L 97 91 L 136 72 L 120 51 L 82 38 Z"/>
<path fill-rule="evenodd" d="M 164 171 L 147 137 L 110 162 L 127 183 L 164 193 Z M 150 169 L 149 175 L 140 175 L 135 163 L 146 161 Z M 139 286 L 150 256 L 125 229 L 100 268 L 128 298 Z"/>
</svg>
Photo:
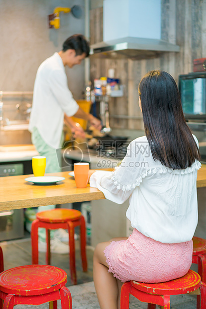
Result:
<svg viewBox="0 0 206 309">
<path fill-rule="evenodd" d="M 103 41 L 161 39 L 161 0 L 104 0 Z"/>
</svg>

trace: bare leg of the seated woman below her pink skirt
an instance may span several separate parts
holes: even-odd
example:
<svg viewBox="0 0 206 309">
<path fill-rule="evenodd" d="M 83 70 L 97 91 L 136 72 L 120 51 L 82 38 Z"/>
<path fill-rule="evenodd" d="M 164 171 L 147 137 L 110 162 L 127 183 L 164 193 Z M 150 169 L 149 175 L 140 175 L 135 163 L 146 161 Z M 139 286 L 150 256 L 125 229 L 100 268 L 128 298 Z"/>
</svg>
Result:
<svg viewBox="0 0 206 309">
<path fill-rule="evenodd" d="M 127 238 L 123 238 L 127 239 Z M 122 238 L 118 238 L 122 240 Z M 110 244 L 110 241 L 97 245 L 94 252 L 93 277 L 98 301 L 101 309 L 117 309 L 117 302 L 120 299 L 117 280 L 112 273 L 108 273 L 108 265 L 103 251 Z"/>
</svg>

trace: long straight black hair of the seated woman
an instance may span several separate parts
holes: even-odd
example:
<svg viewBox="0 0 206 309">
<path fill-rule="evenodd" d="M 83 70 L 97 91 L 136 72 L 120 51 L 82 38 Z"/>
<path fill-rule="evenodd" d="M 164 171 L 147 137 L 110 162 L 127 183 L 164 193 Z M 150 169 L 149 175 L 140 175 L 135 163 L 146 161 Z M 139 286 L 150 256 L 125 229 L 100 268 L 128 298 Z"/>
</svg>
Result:
<svg viewBox="0 0 206 309">
<path fill-rule="evenodd" d="M 185 169 L 200 160 L 173 77 L 164 71 L 150 71 L 139 83 L 139 96 L 154 160 L 172 169 Z"/>
</svg>

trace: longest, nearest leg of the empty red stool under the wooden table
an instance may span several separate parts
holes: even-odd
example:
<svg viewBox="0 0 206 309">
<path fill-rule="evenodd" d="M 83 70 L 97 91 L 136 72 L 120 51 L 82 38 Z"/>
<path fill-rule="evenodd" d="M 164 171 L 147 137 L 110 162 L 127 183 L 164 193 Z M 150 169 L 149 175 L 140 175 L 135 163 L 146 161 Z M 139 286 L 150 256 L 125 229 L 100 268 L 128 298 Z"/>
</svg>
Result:
<svg viewBox="0 0 206 309">
<path fill-rule="evenodd" d="M 70 274 L 71 282 L 73 285 L 77 284 L 76 265 L 75 265 L 75 241 L 74 241 L 74 225 L 72 221 L 68 221 L 69 232 L 69 251 L 70 251 Z"/>
</svg>

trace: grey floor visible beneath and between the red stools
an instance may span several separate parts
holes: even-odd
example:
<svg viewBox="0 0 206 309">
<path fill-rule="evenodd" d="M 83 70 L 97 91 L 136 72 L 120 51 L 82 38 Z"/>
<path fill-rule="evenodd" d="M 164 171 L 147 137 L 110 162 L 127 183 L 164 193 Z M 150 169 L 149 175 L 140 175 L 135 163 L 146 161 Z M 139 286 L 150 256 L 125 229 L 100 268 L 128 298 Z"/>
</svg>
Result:
<svg viewBox="0 0 206 309">
<path fill-rule="evenodd" d="M 4 269 L 17 267 L 20 265 L 31 264 L 31 245 L 30 239 L 1 242 L 3 250 Z M 64 269 L 68 275 L 66 287 L 72 294 L 73 309 L 100 309 L 97 295 L 95 292 L 92 267 L 93 267 L 93 248 L 87 247 L 88 272 L 83 273 L 81 268 L 79 241 L 76 241 L 76 267 L 78 285 L 71 286 L 69 259 L 67 255 L 52 254 L 52 265 Z M 39 254 L 39 264 L 45 263 L 45 254 Z M 157 307 L 157 306 L 156 306 Z M 48 304 L 40 306 L 17 305 L 16 309 L 48 309 Z M 130 297 L 129 309 L 147 309 L 146 303 L 141 303 L 134 297 Z M 157 307 L 158 308 L 158 307 Z M 61 303 L 58 301 L 58 309 Z M 196 309 L 196 296 L 180 295 L 171 297 L 171 309 Z"/>
</svg>

